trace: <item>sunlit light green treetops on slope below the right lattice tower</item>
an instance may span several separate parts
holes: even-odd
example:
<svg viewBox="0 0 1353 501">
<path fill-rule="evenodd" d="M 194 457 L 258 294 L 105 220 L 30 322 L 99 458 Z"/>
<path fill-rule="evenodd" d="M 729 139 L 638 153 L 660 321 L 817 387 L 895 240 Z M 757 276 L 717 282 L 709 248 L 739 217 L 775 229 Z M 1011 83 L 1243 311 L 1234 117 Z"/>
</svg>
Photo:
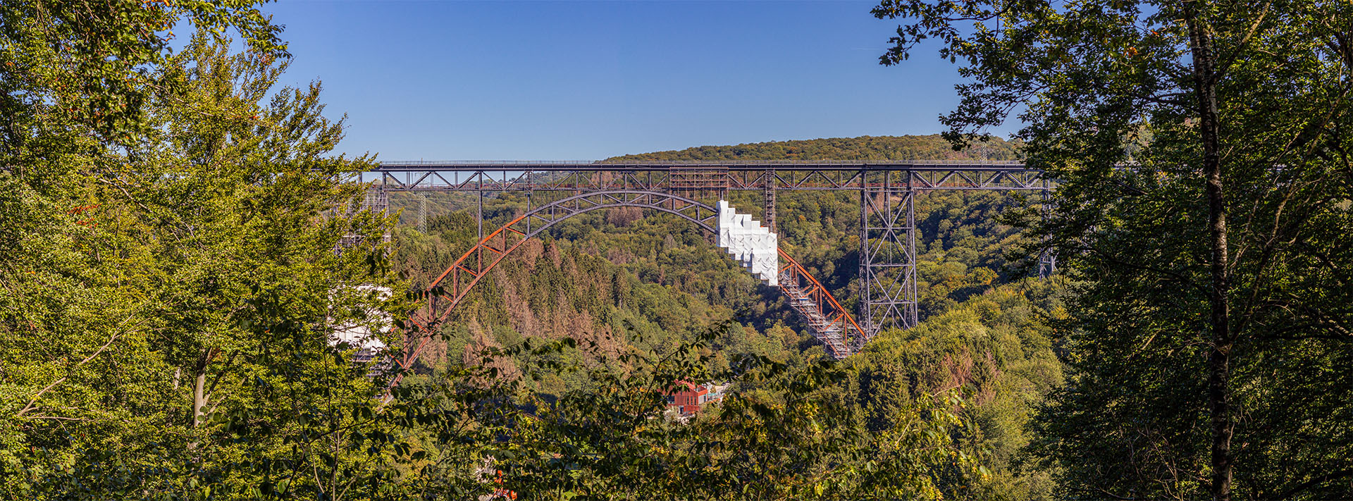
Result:
<svg viewBox="0 0 1353 501">
<path fill-rule="evenodd" d="M 962 390 L 959 414 L 973 424 L 963 450 L 981 456 L 992 475 L 971 498 L 1050 498 L 1049 473 L 1026 464 L 1034 435 L 1028 422 L 1043 398 L 1062 385 L 1045 320 L 1063 314 L 1058 288 L 1026 280 L 973 297 L 911 330 L 879 333 L 850 359 L 859 366 L 866 425 L 888 428 L 915 398 Z"/>
</svg>

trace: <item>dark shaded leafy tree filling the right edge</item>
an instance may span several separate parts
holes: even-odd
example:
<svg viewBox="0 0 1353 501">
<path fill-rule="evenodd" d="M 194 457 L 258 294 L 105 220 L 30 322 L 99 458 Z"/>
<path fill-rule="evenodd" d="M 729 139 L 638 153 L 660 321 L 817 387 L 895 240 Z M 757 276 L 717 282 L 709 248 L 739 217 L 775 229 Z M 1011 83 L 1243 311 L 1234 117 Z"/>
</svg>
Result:
<svg viewBox="0 0 1353 501">
<path fill-rule="evenodd" d="M 886 0 L 884 64 L 962 61 L 955 146 L 1015 114 L 1081 282 L 1042 418 L 1089 496 L 1348 497 L 1353 11 L 1341 1 Z M 1131 161 L 1130 168 L 1120 165 Z M 1312 372 L 1327 374 L 1325 378 Z M 1339 397 L 1335 397 L 1339 395 Z M 1233 485 L 1234 481 L 1234 485 Z"/>
</svg>

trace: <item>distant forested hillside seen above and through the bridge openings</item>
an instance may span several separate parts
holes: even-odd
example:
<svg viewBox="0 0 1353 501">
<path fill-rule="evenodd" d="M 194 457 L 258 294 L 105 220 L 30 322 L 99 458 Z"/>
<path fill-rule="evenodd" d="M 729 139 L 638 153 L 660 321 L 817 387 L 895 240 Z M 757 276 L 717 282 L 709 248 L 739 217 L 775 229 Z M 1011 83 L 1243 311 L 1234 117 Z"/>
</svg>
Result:
<svg viewBox="0 0 1353 501">
<path fill-rule="evenodd" d="M 1011 144 L 993 139 L 992 156 L 1012 158 Z M 973 152 L 953 152 L 938 135 L 863 137 L 766 142 L 740 146 L 702 146 L 682 152 L 626 156 L 618 160 L 785 160 L 783 152 L 798 152 L 801 160 L 974 160 Z M 777 157 L 777 154 L 779 154 Z M 395 234 L 395 260 L 414 283 L 430 279 L 472 245 L 475 227 L 468 198 L 457 195 L 392 194 L 391 207 L 400 214 L 402 226 Z M 744 211 L 760 211 L 760 195 L 733 192 L 731 203 Z M 1001 223 L 1001 213 L 1020 203 L 1016 196 L 996 192 L 928 192 L 917 196 L 917 253 L 921 317 L 930 317 L 958 302 L 981 294 L 1000 283 L 1011 282 L 1012 267 L 1004 252 L 1019 238 L 1017 232 Z M 414 226 L 415 213 L 426 204 L 426 230 Z M 828 286 L 848 307 L 855 305 L 855 264 L 858 261 L 859 207 L 855 194 L 782 192 L 779 195 L 781 245 Z M 525 207 L 520 194 L 501 194 L 486 199 L 486 227 L 505 222 Z M 545 291 L 548 290 L 548 292 Z M 507 268 L 478 294 L 465 313 L 474 317 L 467 325 L 484 332 L 510 328 L 518 334 L 548 333 L 541 325 L 595 325 L 599 332 L 616 334 L 614 343 L 625 344 L 626 333 L 639 337 L 672 334 L 674 329 L 694 318 L 729 315 L 740 311 L 740 321 L 760 332 L 787 326 L 801 330 L 793 311 L 770 287 L 756 282 L 733 261 L 725 259 L 708 238 L 685 221 L 664 215 L 644 215 L 637 209 L 591 213 L 564 221 L 551 238 L 532 242 L 514 256 Z M 521 302 L 530 311 L 515 317 L 503 305 Z M 649 306 L 660 306 L 651 309 Z M 706 309 L 713 309 L 710 314 Z M 660 328 L 660 329 L 653 329 Z M 468 328 L 467 328 L 468 329 Z M 770 353 L 798 351 L 798 340 L 783 339 Z M 451 352 L 469 343 L 468 330 L 448 339 Z M 806 341 L 806 339 L 805 339 Z M 729 340 L 739 348 L 739 340 Z M 758 341 L 759 343 L 759 341 Z M 662 345 L 658 343 L 656 345 Z"/>
</svg>

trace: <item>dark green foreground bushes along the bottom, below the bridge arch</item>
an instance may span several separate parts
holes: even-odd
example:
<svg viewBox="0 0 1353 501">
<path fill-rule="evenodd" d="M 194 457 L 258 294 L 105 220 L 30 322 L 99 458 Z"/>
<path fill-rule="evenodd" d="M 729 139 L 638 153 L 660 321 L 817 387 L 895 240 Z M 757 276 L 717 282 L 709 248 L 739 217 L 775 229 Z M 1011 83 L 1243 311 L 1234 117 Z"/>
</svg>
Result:
<svg viewBox="0 0 1353 501">
<path fill-rule="evenodd" d="M 940 498 L 977 478 L 976 456 L 957 447 L 965 421 L 953 393 L 915 399 L 888 429 L 859 425 L 844 398 L 851 370 L 827 360 L 781 364 L 764 357 L 709 372 L 704 347 L 728 324 L 659 357 L 621 355 L 616 371 L 549 363 L 575 343 L 490 349 L 526 367 L 583 371 L 595 389 L 548 397 L 503 379 L 491 366 L 452 366 L 409 397 L 438 402 L 422 420 L 423 459 L 407 478 L 422 496 L 483 496 L 510 490 L 522 500 L 819 500 Z M 756 387 L 731 394 L 698 420 L 664 413 L 664 390 L 681 380 L 723 378 Z M 433 439 L 436 437 L 436 439 Z M 434 494 L 436 493 L 436 494 Z"/>
</svg>

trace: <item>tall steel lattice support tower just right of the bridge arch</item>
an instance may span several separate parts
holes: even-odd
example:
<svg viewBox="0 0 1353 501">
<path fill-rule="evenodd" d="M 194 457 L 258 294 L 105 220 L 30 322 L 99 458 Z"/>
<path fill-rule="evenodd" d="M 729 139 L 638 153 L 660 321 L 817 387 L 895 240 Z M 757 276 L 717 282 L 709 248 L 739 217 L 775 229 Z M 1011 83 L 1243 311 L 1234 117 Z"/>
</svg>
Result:
<svg viewBox="0 0 1353 501">
<path fill-rule="evenodd" d="M 917 324 L 915 196 L 911 171 L 861 171 L 859 318 L 869 336 Z"/>
</svg>

